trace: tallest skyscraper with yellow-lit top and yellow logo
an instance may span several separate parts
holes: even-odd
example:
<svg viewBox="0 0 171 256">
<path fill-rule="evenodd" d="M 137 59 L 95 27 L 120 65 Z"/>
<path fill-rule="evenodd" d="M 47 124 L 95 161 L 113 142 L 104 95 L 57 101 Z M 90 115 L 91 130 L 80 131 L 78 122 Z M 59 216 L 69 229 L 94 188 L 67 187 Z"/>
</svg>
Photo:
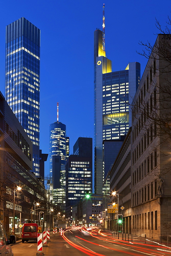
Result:
<svg viewBox="0 0 171 256">
<path fill-rule="evenodd" d="M 131 126 L 131 108 L 140 82 L 140 63 L 130 62 L 125 70 L 112 72 L 106 58 L 104 31 L 94 31 L 94 188 L 102 194 L 103 140 L 119 139 Z"/>
</svg>

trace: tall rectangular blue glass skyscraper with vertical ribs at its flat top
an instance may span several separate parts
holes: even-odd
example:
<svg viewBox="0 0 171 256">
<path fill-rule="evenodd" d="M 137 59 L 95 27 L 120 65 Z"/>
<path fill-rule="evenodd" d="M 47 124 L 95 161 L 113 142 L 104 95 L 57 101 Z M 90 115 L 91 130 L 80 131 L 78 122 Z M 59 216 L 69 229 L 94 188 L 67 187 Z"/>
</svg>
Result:
<svg viewBox="0 0 171 256">
<path fill-rule="evenodd" d="M 5 61 L 5 99 L 33 142 L 39 176 L 40 30 L 24 17 L 6 26 Z"/>
</svg>

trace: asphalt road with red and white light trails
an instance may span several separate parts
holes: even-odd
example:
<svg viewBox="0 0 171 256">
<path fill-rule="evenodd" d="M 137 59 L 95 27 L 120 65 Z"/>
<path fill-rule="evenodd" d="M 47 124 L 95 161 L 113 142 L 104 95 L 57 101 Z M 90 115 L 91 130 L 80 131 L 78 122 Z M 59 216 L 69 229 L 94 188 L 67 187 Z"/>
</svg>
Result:
<svg viewBox="0 0 171 256">
<path fill-rule="evenodd" d="M 50 235 L 51 242 L 43 247 L 47 256 L 171 256 L 171 248 L 160 247 L 159 244 L 133 243 L 110 238 L 108 233 L 98 229 L 73 228 L 62 233 L 62 236 Z M 30 241 L 12 246 L 14 256 L 36 256 L 37 243 Z"/>
</svg>

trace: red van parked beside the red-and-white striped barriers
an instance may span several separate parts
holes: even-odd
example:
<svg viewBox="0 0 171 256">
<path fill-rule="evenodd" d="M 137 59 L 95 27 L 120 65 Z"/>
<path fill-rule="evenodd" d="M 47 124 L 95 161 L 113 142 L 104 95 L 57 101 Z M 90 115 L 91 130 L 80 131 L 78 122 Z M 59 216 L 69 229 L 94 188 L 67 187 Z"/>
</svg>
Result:
<svg viewBox="0 0 171 256">
<path fill-rule="evenodd" d="M 37 241 L 37 231 L 39 225 L 37 223 L 25 223 L 22 230 L 22 243 L 28 240 Z"/>
</svg>

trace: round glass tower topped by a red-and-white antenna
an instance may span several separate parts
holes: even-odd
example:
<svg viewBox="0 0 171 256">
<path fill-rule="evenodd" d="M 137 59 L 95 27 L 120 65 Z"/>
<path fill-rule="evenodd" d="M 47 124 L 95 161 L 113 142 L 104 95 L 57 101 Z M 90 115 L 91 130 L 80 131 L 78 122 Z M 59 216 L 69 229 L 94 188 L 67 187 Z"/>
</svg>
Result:
<svg viewBox="0 0 171 256">
<path fill-rule="evenodd" d="M 49 142 L 49 170 L 54 179 L 54 188 L 65 188 L 65 165 L 66 165 L 66 125 L 60 122 L 50 124 Z M 53 156 L 58 156 L 53 158 Z M 59 161 L 61 165 L 59 165 Z M 54 167 L 54 168 L 53 168 Z M 58 169 L 60 168 L 60 170 Z M 56 187 L 55 179 L 60 180 L 60 186 Z"/>
</svg>

